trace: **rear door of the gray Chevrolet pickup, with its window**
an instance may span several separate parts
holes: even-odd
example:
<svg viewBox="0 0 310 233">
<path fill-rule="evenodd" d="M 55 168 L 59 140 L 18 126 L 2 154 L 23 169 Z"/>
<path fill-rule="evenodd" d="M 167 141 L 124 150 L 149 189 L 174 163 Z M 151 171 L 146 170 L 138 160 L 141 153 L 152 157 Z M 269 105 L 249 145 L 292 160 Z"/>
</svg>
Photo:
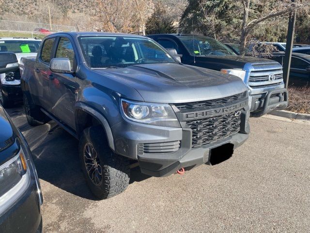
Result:
<svg viewBox="0 0 310 233">
<path fill-rule="evenodd" d="M 39 51 L 37 60 L 34 64 L 34 75 L 35 81 L 37 82 L 35 102 L 47 111 L 49 111 L 51 107 L 49 90 L 51 72 L 49 70 L 49 63 L 53 54 L 55 39 L 56 37 L 52 37 L 43 42 L 42 49 Z"/>
</svg>

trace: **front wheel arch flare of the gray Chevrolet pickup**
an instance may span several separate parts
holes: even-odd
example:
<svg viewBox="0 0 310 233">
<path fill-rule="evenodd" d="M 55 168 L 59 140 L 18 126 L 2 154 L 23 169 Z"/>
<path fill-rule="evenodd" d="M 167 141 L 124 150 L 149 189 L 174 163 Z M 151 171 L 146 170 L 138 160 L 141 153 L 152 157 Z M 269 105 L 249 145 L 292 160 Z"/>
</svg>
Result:
<svg viewBox="0 0 310 233">
<path fill-rule="evenodd" d="M 91 126 L 89 125 L 90 124 L 89 117 L 91 117 L 92 120 L 91 125 L 100 124 L 102 126 L 102 128 L 106 133 L 106 138 L 108 140 L 110 149 L 115 151 L 113 134 L 106 117 L 82 102 L 78 102 L 76 104 L 76 110 L 75 110 L 75 122 L 78 138 L 81 137 L 83 130 L 85 128 Z"/>
</svg>

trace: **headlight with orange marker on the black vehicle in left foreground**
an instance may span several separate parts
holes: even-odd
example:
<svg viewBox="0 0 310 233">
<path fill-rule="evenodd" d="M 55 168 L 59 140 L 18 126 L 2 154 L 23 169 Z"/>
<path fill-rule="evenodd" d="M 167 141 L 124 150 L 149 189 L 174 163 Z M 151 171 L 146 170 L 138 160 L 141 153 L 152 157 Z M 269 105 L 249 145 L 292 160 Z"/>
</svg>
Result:
<svg viewBox="0 0 310 233">
<path fill-rule="evenodd" d="M 23 151 L 0 166 L 0 214 L 23 194 L 30 183 L 30 175 Z"/>
</svg>

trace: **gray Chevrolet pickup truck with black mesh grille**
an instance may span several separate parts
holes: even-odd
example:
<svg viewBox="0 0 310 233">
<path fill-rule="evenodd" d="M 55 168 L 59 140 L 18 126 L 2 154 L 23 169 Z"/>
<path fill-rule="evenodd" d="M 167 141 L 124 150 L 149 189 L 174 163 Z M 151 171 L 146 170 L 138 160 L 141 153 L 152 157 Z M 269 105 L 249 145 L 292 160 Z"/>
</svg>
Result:
<svg viewBox="0 0 310 233">
<path fill-rule="evenodd" d="M 79 139 L 100 199 L 124 191 L 134 165 L 157 177 L 183 173 L 248 138 L 242 80 L 181 64 L 147 37 L 55 33 L 20 66 L 29 124 L 53 119 Z"/>
</svg>

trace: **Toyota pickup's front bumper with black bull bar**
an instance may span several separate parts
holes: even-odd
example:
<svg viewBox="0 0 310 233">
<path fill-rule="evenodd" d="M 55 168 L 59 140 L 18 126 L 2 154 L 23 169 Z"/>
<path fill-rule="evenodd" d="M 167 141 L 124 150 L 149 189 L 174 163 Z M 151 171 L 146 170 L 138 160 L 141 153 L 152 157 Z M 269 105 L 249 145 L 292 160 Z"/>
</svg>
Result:
<svg viewBox="0 0 310 233">
<path fill-rule="evenodd" d="M 253 116 L 263 116 L 274 109 L 285 109 L 288 106 L 288 91 L 284 83 L 264 88 L 249 87 L 249 107 Z"/>
</svg>

